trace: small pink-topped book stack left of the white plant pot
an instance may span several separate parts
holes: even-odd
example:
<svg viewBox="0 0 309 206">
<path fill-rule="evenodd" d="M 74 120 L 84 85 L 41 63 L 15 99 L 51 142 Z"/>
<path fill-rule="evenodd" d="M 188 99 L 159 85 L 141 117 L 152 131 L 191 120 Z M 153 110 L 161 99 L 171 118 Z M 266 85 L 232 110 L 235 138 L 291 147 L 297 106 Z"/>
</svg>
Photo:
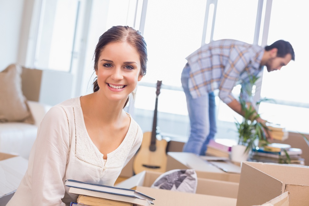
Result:
<svg viewBox="0 0 309 206">
<path fill-rule="evenodd" d="M 230 139 L 212 139 L 207 145 L 206 155 L 214 157 L 230 157 L 231 148 L 237 142 Z"/>
</svg>

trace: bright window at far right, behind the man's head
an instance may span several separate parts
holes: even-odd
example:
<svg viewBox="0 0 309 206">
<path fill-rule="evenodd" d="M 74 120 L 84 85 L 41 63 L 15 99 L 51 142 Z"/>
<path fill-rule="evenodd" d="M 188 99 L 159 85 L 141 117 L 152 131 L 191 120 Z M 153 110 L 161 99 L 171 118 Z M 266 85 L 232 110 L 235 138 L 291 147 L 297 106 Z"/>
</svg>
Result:
<svg viewBox="0 0 309 206">
<path fill-rule="evenodd" d="M 289 41 L 295 51 L 291 61 L 280 71 L 263 74 L 261 97 L 274 99 L 274 103 L 261 103 L 259 111 L 270 122 L 281 124 L 289 131 L 309 133 L 309 95 L 307 85 L 309 70 L 309 32 L 302 23 L 309 19 L 307 1 L 273 0 L 268 45 L 283 39 Z"/>
</svg>

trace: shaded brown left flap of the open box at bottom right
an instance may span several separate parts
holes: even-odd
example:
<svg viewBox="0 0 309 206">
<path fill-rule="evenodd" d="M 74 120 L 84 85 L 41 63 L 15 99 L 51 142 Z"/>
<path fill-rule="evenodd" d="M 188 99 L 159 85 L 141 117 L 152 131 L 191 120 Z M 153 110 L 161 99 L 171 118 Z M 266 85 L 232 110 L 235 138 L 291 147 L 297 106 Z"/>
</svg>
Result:
<svg viewBox="0 0 309 206">
<path fill-rule="evenodd" d="M 282 182 L 242 163 L 237 206 L 264 204 L 281 195 Z"/>
</svg>

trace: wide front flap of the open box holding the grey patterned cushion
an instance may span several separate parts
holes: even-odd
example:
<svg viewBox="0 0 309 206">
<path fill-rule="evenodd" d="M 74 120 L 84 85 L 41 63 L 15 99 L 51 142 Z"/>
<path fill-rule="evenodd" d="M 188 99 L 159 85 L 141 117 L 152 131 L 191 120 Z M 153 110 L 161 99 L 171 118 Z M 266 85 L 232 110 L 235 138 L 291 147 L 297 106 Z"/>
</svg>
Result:
<svg viewBox="0 0 309 206">
<path fill-rule="evenodd" d="M 150 187 L 136 188 L 138 191 L 154 197 L 155 205 L 160 206 L 188 206 L 188 205 L 207 205 L 207 206 L 233 206 L 236 205 L 235 198 L 218 197 L 212 195 L 201 195 L 185 193 L 179 191 L 161 190 Z"/>
</svg>

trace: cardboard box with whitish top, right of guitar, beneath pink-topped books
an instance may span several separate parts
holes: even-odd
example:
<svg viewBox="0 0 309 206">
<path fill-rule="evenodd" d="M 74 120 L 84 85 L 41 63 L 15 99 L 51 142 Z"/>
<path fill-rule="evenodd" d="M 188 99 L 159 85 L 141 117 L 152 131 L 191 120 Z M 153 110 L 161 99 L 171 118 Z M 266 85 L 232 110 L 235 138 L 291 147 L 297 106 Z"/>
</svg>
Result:
<svg viewBox="0 0 309 206">
<path fill-rule="evenodd" d="M 240 166 L 224 161 L 205 161 L 193 153 L 168 152 L 167 171 L 194 169 L 198 178 L 216 179 L 239 183 Z M 233 172 L 228 172 L 233 171 Z"/>
</svg>

